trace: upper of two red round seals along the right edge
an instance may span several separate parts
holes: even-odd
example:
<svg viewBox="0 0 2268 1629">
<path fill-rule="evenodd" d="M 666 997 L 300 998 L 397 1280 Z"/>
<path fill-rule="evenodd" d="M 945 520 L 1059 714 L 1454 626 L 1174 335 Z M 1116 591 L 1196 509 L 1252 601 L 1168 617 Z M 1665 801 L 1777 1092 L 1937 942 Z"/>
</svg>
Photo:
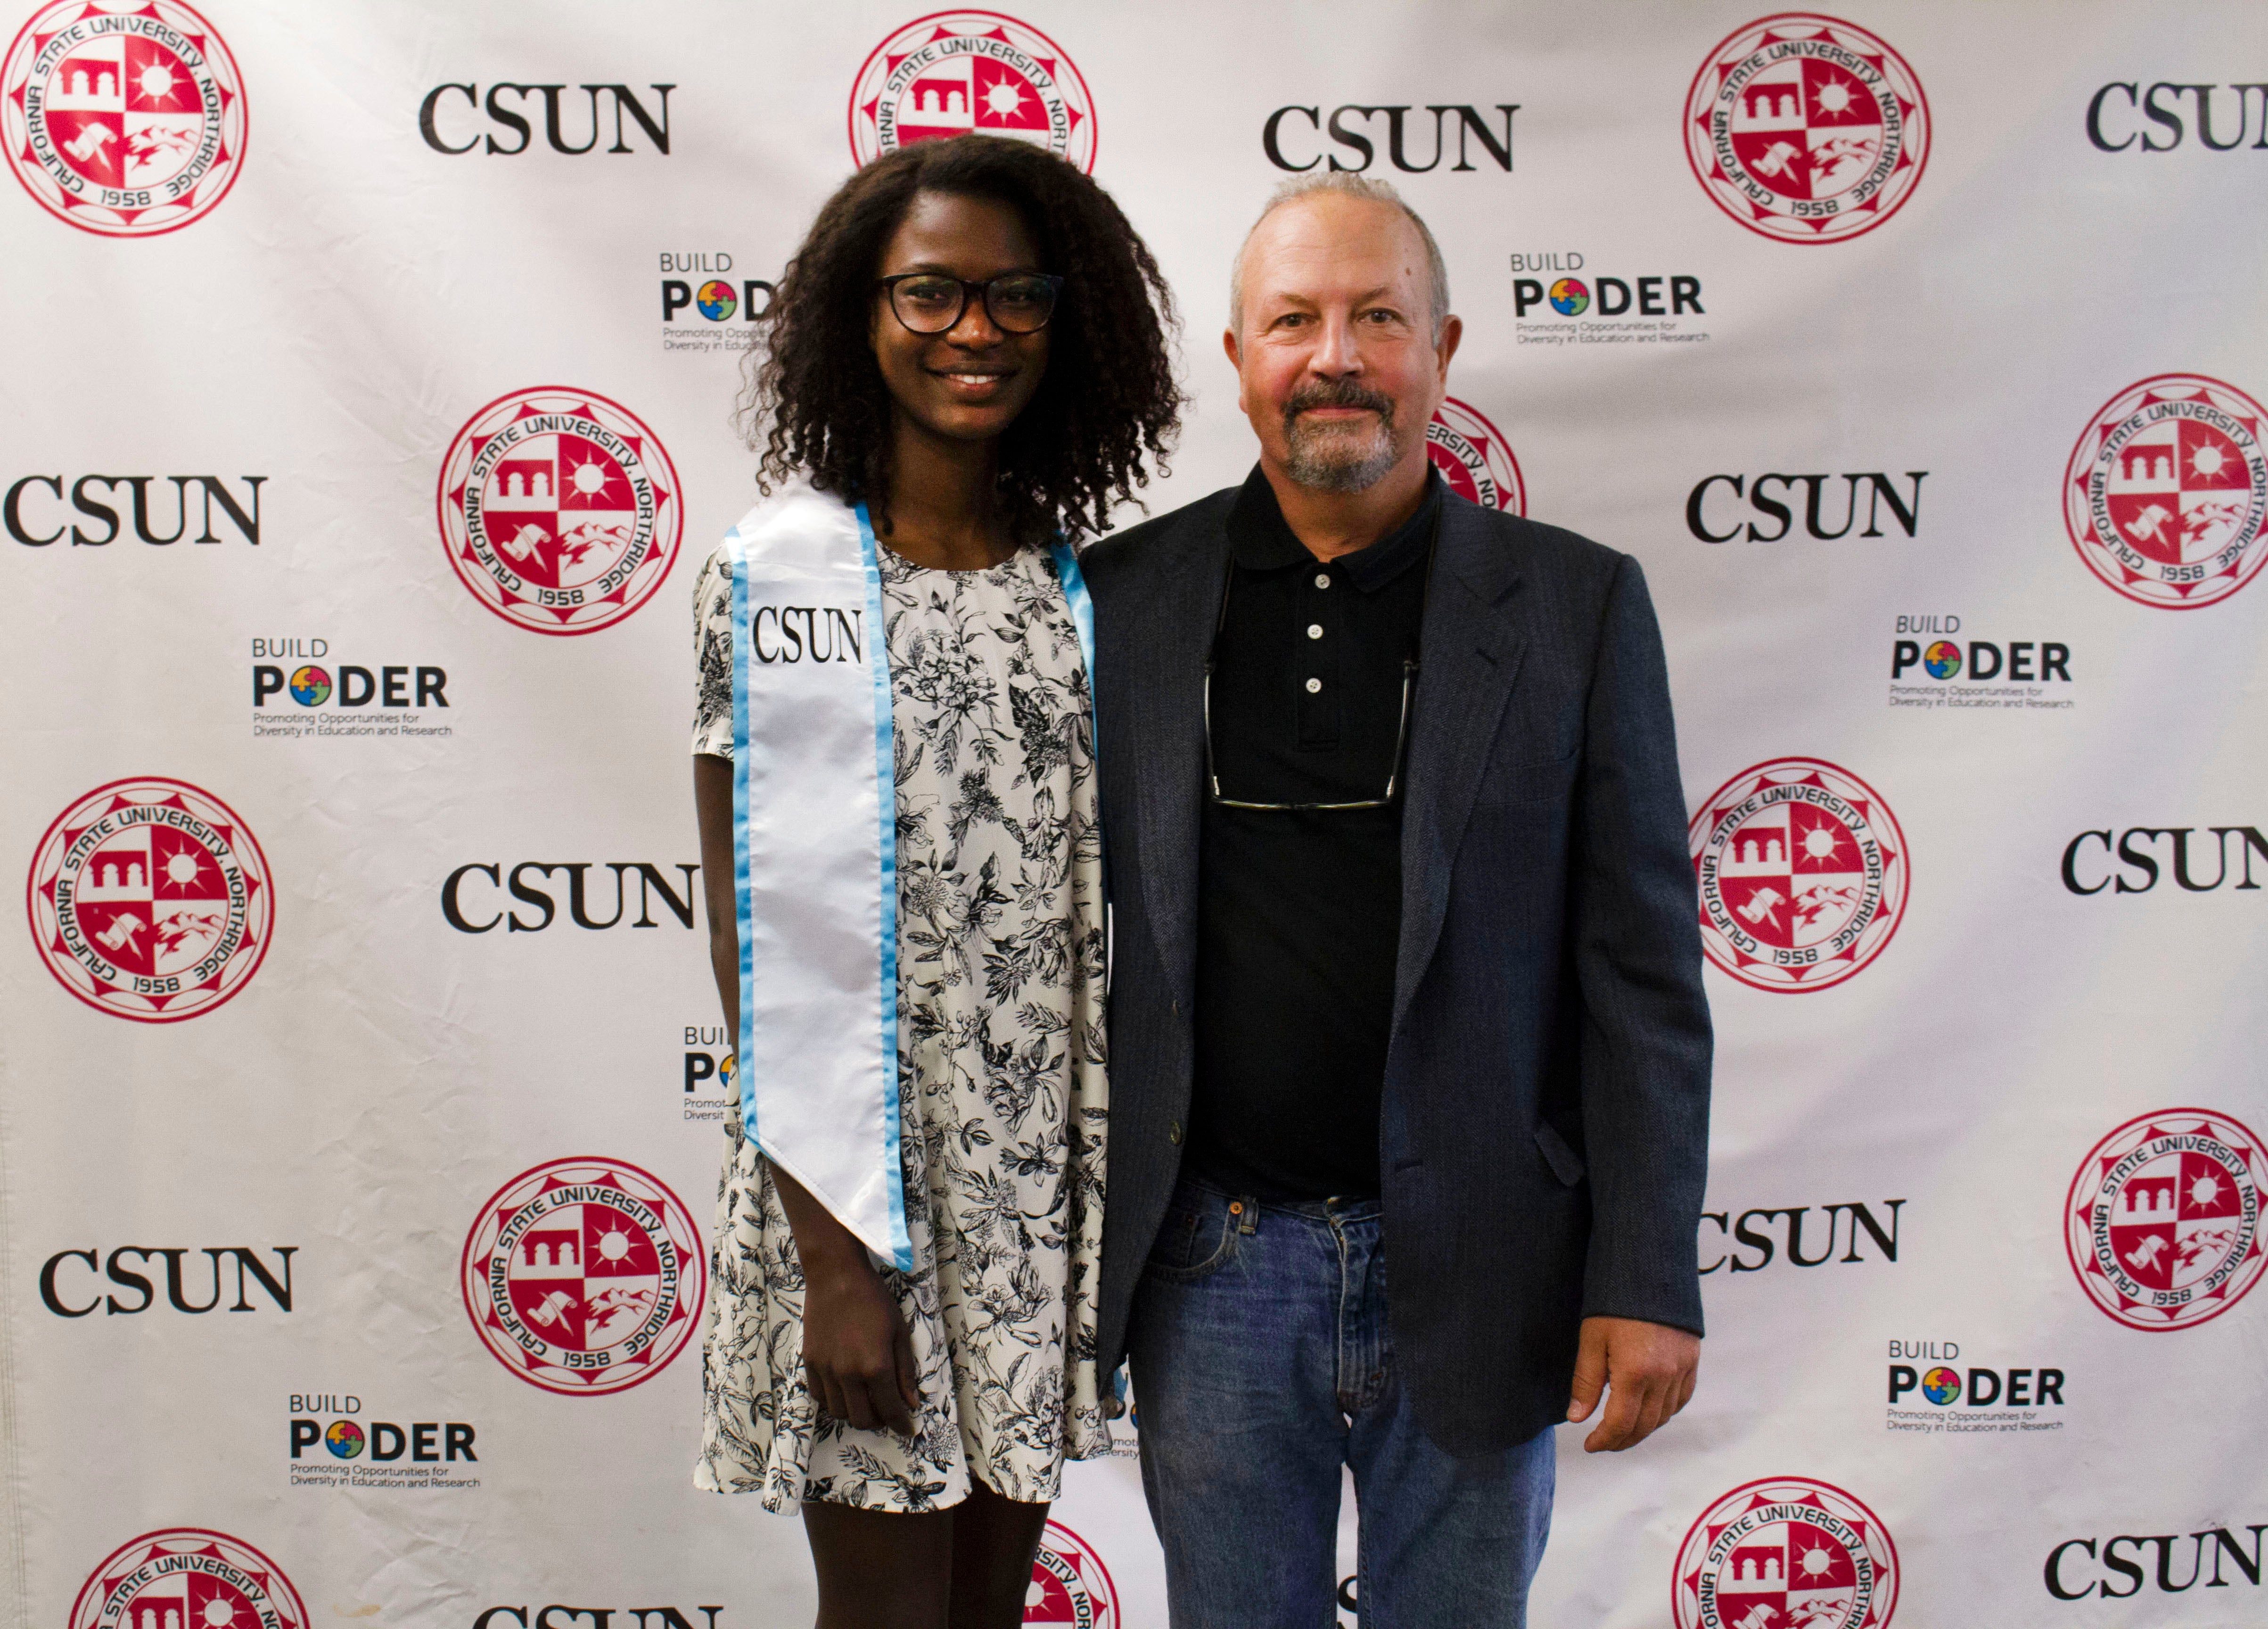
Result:
<svg viewBox="0 0 2268 1629">
<path fill-rule="evenodd" d="M 2159 610 L 2220 604 L 2259 576 L 2263 417 L 2204 374 L 2157 374 L 2105 402 L 2064 472 L 2064 526 L 2087 569 Z"/>
</svg>

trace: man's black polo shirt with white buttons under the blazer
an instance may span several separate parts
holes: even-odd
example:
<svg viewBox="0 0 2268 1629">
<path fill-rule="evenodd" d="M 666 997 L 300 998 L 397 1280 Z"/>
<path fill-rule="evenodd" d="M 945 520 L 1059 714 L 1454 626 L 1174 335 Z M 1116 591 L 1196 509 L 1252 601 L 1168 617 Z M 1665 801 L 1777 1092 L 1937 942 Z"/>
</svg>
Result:
<svg viewBox="0 0 2268 1629">
<path fill-rule="evenodd" d="M 1213 644 L 1220 794 L 1377 799 L 1395 771 L 1440 476 L 1368 549 L 1320 563 L 1259 470 L 1229 510 Z M 1207 787 L 1188 1159 L 1256 1198 L 1379 1191 L 1379 1096 L 1402 937 L 1402 790 L 1374 810 L 1241 810 Z"/>
</svg>

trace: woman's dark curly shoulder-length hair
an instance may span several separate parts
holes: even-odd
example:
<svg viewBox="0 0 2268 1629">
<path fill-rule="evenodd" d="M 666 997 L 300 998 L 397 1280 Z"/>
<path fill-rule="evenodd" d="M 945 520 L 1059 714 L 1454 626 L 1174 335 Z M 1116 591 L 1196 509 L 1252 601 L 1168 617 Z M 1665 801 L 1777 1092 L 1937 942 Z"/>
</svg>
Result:
<svg viewBox="0 0 2268 1629">
<path fill-rule="evenodd" d="M 987 197 L 1023 216 L 1039 270 L 1064 277 L 1048 370 L 1000 438 L 1000 504 L 1034 542 L 1102 531 L 1114 504 L 1166 472 L 1179 429 L 1166 334 L 1173 295 L 1109 193 L 1043 147 L 1005 136 L 921 141 L 882 154 L 826 202 L 748 354 L 739 422 L 771 490 L 798 472 L 889 531 L 891 402 L 869 345 L 873 286 L 916 193 Z"/>
</svg>

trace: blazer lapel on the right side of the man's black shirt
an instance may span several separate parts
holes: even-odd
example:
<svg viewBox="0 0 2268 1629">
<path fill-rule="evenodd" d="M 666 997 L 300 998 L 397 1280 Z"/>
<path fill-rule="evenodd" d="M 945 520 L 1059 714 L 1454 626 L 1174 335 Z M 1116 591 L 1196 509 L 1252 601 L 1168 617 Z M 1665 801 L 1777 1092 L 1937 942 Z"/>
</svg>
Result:
<svg viewBox="0 0 2268 1629">
<path fill-rule="evenodd" d="M 1520 588 L 1517 556 L 1479 508 L 1442 499 L 1440 545 L 1417 635 L 1408 801 L 1402 808 L 1402 946 L 1395 957 L 1395 1030 L 1433 960 L 1449 910 L 1449 869 L 1488 769 L 1524 640 L 1504 615 Z"/>
</svg>

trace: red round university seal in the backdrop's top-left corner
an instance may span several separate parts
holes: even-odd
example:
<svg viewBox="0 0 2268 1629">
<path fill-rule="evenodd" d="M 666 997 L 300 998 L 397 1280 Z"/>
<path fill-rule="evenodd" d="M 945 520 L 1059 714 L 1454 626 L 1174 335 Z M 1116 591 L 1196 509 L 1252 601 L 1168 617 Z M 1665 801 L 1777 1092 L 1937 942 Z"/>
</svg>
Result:
<svg viewBox="0 0 2268 1629">
<path fill-rule="evenodd" d="M 243 79 L 213 25 L 179 0 L 57 0 L 0 66 L 0 136 L 50 216 L 150 238 L 209 213 L 236 182 Z"/>
</svg>

